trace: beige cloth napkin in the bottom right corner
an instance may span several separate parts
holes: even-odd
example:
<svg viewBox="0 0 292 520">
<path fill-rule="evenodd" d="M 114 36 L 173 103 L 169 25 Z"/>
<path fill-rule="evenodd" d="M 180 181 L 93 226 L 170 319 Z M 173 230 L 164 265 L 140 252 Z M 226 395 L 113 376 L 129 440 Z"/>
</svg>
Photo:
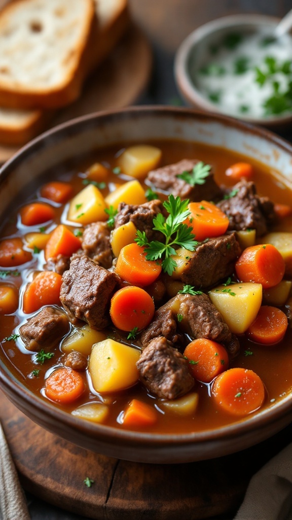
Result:
<svg viewBox="0 0 292 520">
<path fill-rule="evenodd" d="M 251 478 L 234 520 L 292 520 L 292 444 Z"/>
</svg>

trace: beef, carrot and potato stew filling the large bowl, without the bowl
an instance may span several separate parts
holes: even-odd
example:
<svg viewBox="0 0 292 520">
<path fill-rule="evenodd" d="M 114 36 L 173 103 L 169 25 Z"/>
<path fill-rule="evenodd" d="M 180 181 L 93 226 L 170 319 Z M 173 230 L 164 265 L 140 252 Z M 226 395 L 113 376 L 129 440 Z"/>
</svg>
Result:
<svg viewBox="0 0 292 520">
<path fill-rule="evenodd" d="M 2 359 L 117 428 L 196 432 L 292 387 L 289 186 L 180 141 L 47 172 L 0 238 Z"/>
</svg>

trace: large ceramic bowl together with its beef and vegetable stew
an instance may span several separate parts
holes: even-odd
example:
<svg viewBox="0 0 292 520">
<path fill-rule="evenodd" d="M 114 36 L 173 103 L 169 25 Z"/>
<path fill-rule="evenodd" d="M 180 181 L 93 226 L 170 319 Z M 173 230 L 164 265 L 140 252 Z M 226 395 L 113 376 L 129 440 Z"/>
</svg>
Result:
<svg viewBox="0 0 292 520">
<path fill-rule="evenodd" d="M 37 424 L 177 463 L 292 418 L 292 147 L 223 115 L 58 126 L 0 173 L 0 382 Z"/>
</svg>

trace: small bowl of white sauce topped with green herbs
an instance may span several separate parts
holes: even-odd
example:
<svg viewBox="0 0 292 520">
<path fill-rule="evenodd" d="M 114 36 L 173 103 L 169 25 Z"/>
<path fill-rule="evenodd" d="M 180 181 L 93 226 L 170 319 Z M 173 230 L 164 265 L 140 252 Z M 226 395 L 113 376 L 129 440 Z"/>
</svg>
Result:
<svg viewBox="0 0 292 520">
<path fill-rule="evenodd" d="M 289 32 L 277 35 L 279 22 L 266 15 L 230 15 L 189 34 L 175 58 L 185 101 L 270 128 L 289 125 L 292 38 Z"/>
</svg>

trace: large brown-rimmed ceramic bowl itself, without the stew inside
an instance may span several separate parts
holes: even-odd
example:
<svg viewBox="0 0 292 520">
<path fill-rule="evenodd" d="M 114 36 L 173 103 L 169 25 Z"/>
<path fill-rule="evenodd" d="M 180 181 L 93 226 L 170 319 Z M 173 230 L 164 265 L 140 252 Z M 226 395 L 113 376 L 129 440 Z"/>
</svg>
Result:
<svg viewBox="0 0 292 520">
<path fill-rule="evenodd" d="M 150 138 L 197 141 L 230 149 L 269 165 L 272 171 L 281 172 L 283 179 L 291 177 L 292 146 L 269 131 L 191 109 L 132 107 L 65 123 L 22 148 L 1 168 L 2 217 L 15 197 L 37 183 L 48 168 L 78 160 L 97 147 Z M 221 457 L 271 437 L 292 420 L 292 394 L 287 394 L 273 407 L 213 431 L 182 435 L 122 431 L 78 419 L 38 398 L 12 375 L 3 351 L 0 384 L 17 408 L 48 431 L 91 451 L 137 462 L 181 463 Z"/>
</svg>

